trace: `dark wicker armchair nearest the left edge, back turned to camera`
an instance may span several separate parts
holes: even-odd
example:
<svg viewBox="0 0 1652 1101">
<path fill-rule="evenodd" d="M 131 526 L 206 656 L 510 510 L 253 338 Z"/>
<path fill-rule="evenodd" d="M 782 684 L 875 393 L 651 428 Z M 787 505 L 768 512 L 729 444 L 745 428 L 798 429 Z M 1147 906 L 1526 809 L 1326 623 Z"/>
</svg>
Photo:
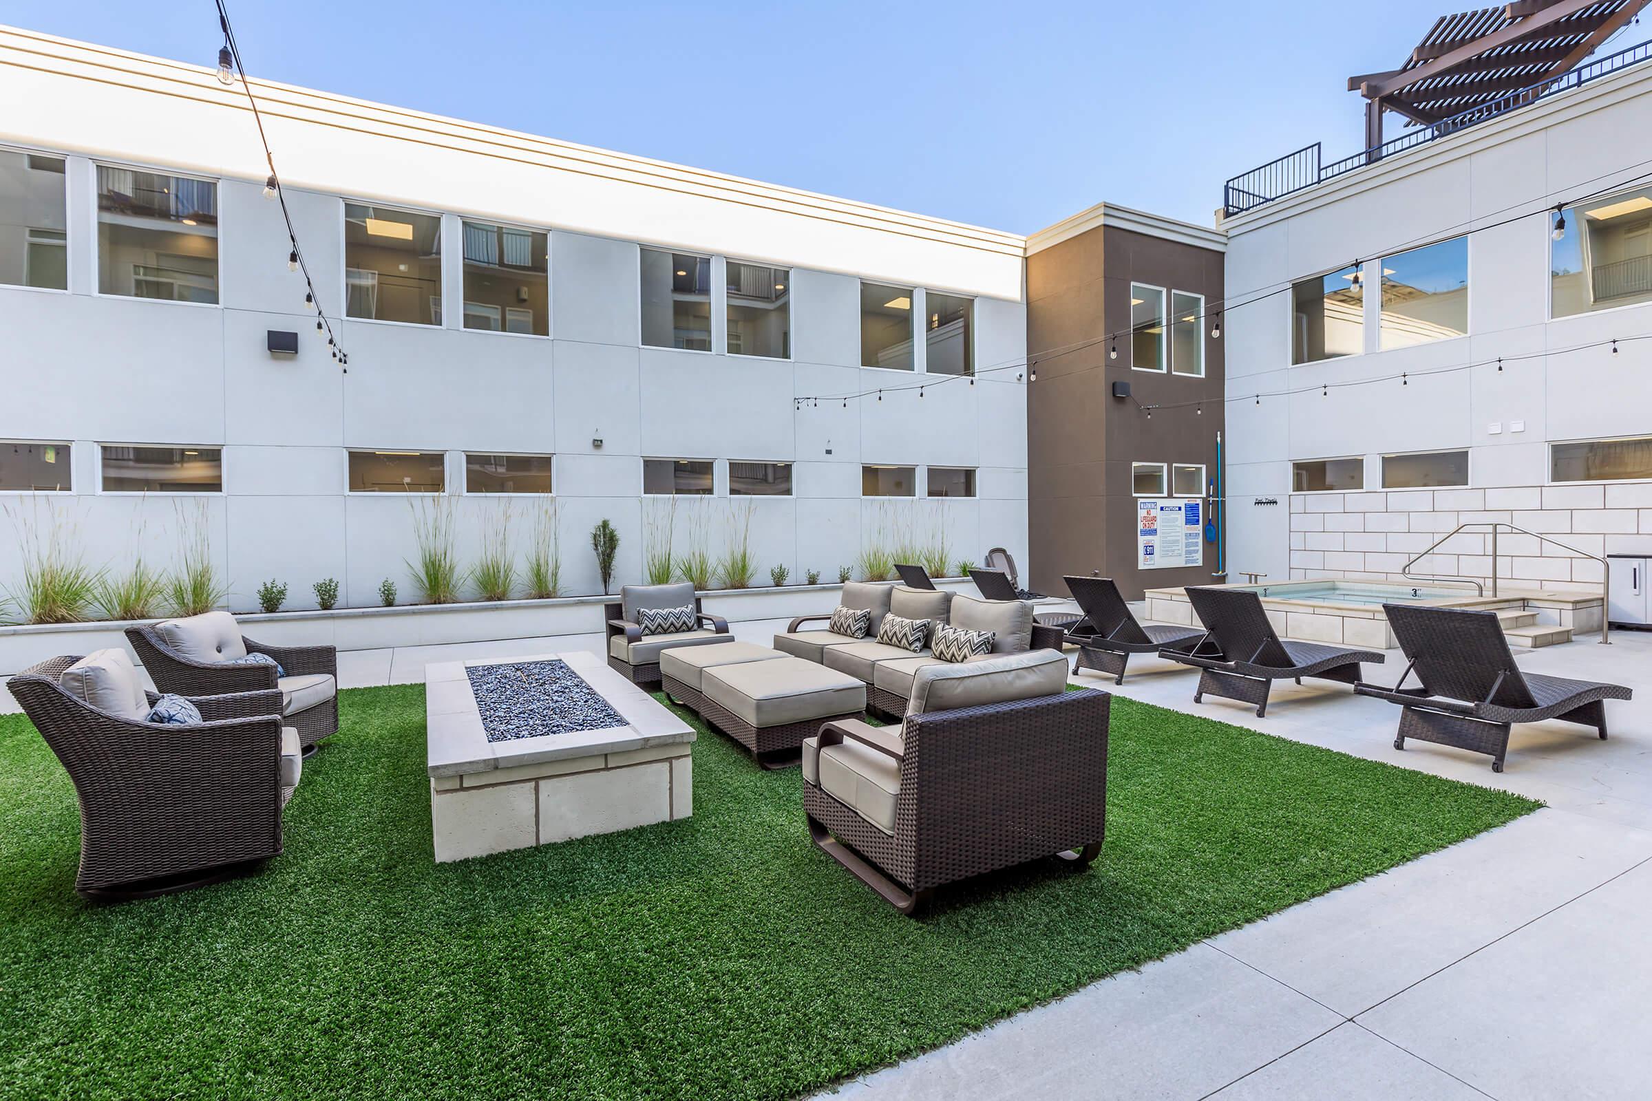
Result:
<svg viewBox="0 0 1652 1101">
<path fill-rule="evenodd" d="M 282 761 L 281 692 L 195 695 L 205 721 L 149 723 L 64 692 L 59 677 L 78 660 L 50 659 L 7 688 L 74 782 L 79 895 L 164 895 L 238 875 L 281 852 L 281 809 L 299 771 L 296 744 Z M 154 703 L 157 693 L 145 698 Z"/>
</svg>

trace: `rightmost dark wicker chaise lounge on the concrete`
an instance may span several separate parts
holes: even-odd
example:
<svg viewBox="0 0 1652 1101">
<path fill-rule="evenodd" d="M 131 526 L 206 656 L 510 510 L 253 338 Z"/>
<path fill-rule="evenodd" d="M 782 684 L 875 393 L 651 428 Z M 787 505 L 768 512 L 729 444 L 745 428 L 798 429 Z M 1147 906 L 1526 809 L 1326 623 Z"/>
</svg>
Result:
<svg viewBox="0 0 1652 1101">
<path fill-rule="evenodd" d="M 1394 748 L 1406 738 L 1455 746 L 1492 758 L 1503 771 L 1513 723 L 1558 718 L 1594 726 L 1606 738 L 1606 700 L 1627 700 L 1622 685 L 1540 677 L 1515 665 L 1497 612 L 1467 607 L 1383 604 L 1404 650 L 1406 672 L 1393 688 L 1355 685 L 1360 695 L 1401 705 Z M 1412 672 L 1422 682 L 1406 688 Z"/>
</svg>

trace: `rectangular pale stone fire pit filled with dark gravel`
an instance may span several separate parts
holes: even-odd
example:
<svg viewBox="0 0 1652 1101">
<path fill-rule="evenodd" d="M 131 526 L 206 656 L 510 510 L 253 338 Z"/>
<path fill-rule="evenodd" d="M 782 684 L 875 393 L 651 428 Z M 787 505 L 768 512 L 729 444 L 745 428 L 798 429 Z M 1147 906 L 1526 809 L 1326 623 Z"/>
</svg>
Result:
<svg viewBox="0 0 1652 1101">
<path fill-rule="evenodd" d="M 425 667 L 436 862 L 694 812 L 694 728 L 595 654 Z"/>
</svg>

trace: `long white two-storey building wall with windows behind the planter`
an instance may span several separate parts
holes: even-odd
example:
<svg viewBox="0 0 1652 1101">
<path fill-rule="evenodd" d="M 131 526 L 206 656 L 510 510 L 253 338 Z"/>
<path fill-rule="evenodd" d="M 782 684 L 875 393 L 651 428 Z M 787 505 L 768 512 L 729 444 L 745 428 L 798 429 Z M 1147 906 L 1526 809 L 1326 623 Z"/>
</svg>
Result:
<svg viewBox="0 0 1652 1101">
<path fill-rule="evenodd" d="M 768 583 L 887 525 L 1028 556 L 1024 241 L 254 81 L 342 370 L 289 271 L 248 99 L 210 69 L 0 28 L 0 503 L 93 565 L 205 517 L 230 606 L 416 599 L 420 502 L 461 561 L 560 510 L 643 579 L 676 502 Z M 296 333 L 297 353 L 271 352 Z M 927 383 L 927 385 L 925 385 Z M 923 386 L 922 395 L 919 386 Z M 879 391 L 882 391 L 879 395 Z M 862 395 L 854 398 L 854 395 Z M 801 399 L 801 404 L 800 404 Z M 0 584 L 18 574 L 0 541 Z"/>
</svg>

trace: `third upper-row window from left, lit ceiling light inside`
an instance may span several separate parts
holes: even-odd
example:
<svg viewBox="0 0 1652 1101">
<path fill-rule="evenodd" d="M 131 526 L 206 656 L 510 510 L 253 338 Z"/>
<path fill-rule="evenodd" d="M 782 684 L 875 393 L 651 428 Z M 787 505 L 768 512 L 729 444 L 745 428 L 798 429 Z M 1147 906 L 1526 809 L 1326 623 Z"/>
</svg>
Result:
<svg viewBox="0 0 1652 1101">
<path fill-rule="evenodd" d="M 441 218 L 344 205 L 347 317 L 441 324 Z"/>
</svg>

